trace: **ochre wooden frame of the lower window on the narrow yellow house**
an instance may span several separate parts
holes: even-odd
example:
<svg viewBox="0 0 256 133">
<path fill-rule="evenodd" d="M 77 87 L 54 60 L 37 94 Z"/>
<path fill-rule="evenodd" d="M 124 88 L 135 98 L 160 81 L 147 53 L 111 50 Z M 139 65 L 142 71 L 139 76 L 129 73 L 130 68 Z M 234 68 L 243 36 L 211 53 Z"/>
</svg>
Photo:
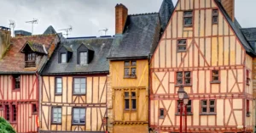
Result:
<svg viewBox="0 0 256 133">
<path fill-rule="evenodd" d="M 128 97 L 125 96 L 125 93 L 128 93 L 128 94 L 129 94 Z M 134 97 L 132 97 L 132 95 L 131 95 L 132 93 L 135 93 L 135 96 L 134 96 Z M 137 106 L 137 104 L 138 104 L 138 103 L 137 103 L 137 91 L 124 91 L 124 93 L 123 93 L 123 98 L 124 98 L 124 110 L 125 110 L 125 111 L 137 111 L 137 107 L 138 107 L 138 106 Z M 126 105 L 126 104 L 125 104 L 125 101 L 126 101 L 126 100 L 129 101 L 129 108 L 126 108 L 126 106 L 125 106 L 125 105 Z M 133 106 L 132 106 L 132 105 L 133 105 L 133 103 L 132 103 L 133 100 L 135 100 L 135 103 L 136 103 L 135 106 L 136 106 L 136 108 L 133 108 Z"/>
</svg>

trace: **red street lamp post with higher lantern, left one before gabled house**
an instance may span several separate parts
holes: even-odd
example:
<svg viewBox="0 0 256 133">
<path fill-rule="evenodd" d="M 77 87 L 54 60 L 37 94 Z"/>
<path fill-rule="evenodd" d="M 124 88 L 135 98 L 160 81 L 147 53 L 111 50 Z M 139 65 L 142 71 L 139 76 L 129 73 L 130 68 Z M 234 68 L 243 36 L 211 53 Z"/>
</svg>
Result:
<svg viewBox="0 0 256 133">
<path fill-rule="evenodd" d="M 178 96 L 178 100 L 179 100 L 179 112 L 180 112 L 180 122 L 179 122 L 179 133 L 183 133 L 183 98 L 184 98 L 184 94 L 185 94 L 185 91 L 184 91 L 184 88 L 183 86 L 180 86 L 178 88 L 178 91 L 177 91 L 177 96 Z"/>
</svg>

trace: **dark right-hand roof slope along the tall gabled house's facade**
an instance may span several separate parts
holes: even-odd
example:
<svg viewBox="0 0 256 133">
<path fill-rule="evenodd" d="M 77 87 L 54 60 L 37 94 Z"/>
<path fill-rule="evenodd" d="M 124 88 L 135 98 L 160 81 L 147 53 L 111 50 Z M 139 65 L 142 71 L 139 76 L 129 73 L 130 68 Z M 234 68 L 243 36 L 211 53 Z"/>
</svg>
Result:
<svg viewBox="0 0 256 133">
<path fill-rule="evenodd" d="M 240 24 L 238 21 L 235 19 L 235 22 L 233 22 L 229 15 L 226 13 L 225 9 L 223 8 L 222 4 L 218 1 L 215 0 L 215 3 L 217 3 L 218 8 L 220 11 L 224 14 L 225 19 L 227 19 L 228 23 L 230 24 L 231 28 L 235 31 L 236 36 L 238 39 L 241 41 L 242 46 L 245 48 L 246 52 L 250 54 L 251 56 L 255 56 L 256 53 L 253 50 L 253 47 L 250 46 L 250 44 L 247 42 L 247 39 L 243 36 L 240 28 Z"/>
</svg>

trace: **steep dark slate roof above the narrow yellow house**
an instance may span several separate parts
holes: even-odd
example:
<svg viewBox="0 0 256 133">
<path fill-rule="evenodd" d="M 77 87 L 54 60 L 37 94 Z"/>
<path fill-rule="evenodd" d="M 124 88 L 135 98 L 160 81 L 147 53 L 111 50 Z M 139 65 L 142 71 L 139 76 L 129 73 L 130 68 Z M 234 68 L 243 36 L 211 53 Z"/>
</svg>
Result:
<svg viewBox="0 0 256 133">
<path fill-rule="evenodd" d="M 148 58 L 160 35 L 159 14 L 128 15 L 122 35 L 114 36 L 108 58 Z"/>
</svg>

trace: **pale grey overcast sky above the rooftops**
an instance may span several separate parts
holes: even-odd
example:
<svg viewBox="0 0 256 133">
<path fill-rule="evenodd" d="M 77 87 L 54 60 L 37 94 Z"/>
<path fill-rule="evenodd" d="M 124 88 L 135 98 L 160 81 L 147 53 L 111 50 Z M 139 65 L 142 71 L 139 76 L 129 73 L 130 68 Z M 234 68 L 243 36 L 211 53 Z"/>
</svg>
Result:
<svg viewBox="0 0 256 133">
<path fill-rule="evenodd" d="M 177 0 L 172 0 L 174 4 Z M 162 0 L 0 0 L 0 25 L 15 20 L 15 30 L 31 31 L 25 21 L 38 19 L 34 34 L 53 25 L 57 32 L 72 25 L 70 36 L 102 36 L 108 28 L 114 34 L 114 7 L 123 3 L 129 14 L 158 12 Z M 256 27 L 256 0 L 236 0 L 236 19 L 242 27 Z"/>
</svg>

